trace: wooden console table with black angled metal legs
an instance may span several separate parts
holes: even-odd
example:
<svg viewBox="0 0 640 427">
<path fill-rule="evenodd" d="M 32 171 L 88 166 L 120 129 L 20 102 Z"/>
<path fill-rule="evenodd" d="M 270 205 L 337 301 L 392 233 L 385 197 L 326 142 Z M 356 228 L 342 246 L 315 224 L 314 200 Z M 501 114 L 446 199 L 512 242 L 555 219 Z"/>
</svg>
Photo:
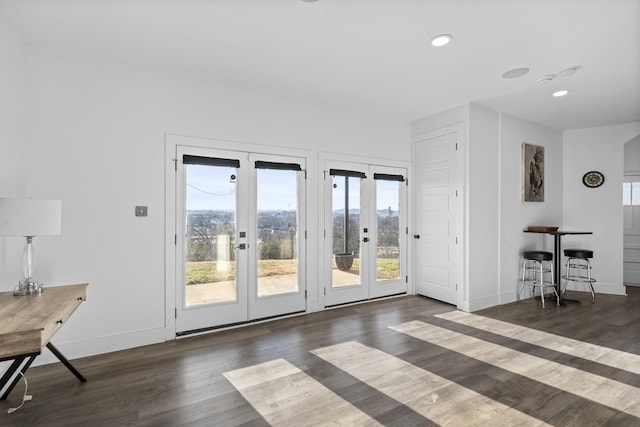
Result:
<svg viewBox="0 0 640 427">
<path fill-rule="evenodd" d="M 15 296 L 0 292 L 0 400 L 7 398 L 31 363 L 47 347 L 81 382 L 86 379 L 51 343 L 78 306 L 88 283 L 54 286 L 41 294 Z M 8 367 L 7 367 L 8 366 Z"/>
</svg>

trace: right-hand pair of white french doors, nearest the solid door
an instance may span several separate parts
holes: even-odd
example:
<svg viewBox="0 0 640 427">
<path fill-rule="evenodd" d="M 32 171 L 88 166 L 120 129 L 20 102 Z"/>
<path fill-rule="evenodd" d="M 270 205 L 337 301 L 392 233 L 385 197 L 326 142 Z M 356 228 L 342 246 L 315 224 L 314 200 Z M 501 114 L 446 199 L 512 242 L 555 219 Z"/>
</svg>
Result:
<svg viewBox="0 0 640 427">
<path fill-rule="evenodd" d="M 325 306 L 406 293 L 406 170 L 325 166 Z"/>
</svg>

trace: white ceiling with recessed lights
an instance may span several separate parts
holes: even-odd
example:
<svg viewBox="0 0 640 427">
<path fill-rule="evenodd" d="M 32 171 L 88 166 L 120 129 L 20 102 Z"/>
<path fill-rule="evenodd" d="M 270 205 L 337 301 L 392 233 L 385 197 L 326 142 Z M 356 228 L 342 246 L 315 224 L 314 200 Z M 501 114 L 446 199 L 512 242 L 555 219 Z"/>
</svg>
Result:
<svg viewBox="0 0 640 427">
<path fill-rule="evenodd" d="M 0 0 L 0 13 L 31 46 L 394 120 L 474 102 L 562 130 L 640 121 L 640 0 Z M 434 48 L 440 33 L 453 41 Z M 502 77 L 517 67 L 530 71 Z"/>
</svg>

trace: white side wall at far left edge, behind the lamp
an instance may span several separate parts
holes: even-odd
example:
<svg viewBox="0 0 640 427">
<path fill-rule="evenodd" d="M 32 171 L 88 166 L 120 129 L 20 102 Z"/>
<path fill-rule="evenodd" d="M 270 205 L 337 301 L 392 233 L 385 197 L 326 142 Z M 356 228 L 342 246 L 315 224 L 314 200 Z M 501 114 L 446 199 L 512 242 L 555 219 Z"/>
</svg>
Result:
<svg viewBox="0 0 640 427">
<path fill-rule="evenodd" d="M 27 163 L 25 144 L 24 41 L 0 13 L 0 197 L 25 195 Z M 0 286 L 13 289 L 22 278 L 24 239 L 0 238 Z"/>
</svg>

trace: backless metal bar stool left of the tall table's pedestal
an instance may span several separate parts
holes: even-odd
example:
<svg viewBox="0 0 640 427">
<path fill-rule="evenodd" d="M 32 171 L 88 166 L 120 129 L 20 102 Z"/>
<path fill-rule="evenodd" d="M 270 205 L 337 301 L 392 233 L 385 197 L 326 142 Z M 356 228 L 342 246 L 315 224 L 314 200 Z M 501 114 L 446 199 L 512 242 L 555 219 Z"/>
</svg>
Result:
<svg viewBox="0 0 640 427">
<path fill-rule="evenodd" d="M 522 280 L 518 286 L 517 300 L 520 301 L 520 293 L 525 286 L 531 288 L 534 299 L 535 290 L 539 288 L 542 308 L 544 308 L 544 288 L 551 288 L 556 295 L 556 305 L 560 305 L 560 297 L 553 280 L 553 254 L 547 251 L 524 251 L 522 257 Z"/>
</svg>

